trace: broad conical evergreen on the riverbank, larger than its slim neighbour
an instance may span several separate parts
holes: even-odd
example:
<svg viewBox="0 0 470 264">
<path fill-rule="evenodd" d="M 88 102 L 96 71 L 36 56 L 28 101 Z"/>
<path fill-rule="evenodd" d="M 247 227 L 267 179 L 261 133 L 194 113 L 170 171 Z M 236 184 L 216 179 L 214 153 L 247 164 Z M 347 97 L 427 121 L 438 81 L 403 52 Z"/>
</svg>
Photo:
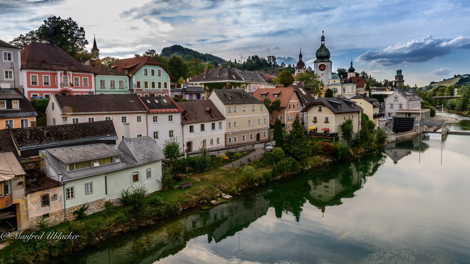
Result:
<svg viewBox="0 0 470 264">
<path fill-rule="evenodd" d="M 302 125 L 298 120 L 298 114 L 295 116 L 294 122 L 292 122 L 292 130 L 290 131 L 288 140 L 289 153 L 295 159 L 306 159 L 310 153 L 312 153 L 310 144 L 307 141 L 307 136 L 302 131 Z"/>
</svg>

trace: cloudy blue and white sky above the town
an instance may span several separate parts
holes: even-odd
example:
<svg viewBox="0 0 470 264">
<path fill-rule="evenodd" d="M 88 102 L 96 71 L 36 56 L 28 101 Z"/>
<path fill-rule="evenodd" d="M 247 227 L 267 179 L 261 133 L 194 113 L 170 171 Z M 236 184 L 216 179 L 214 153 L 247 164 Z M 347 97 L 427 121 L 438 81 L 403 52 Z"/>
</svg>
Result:
<svg viewBox="0 0 470 264">
<path fill-rule="evenodd" d="M 257 54 L 313 66 L 321 31 L 333 68 L 405 84 L 470 73 L 470 2 L 260 0 L 0 0 L 0 39 L 35 30 L 48 16 L 72 17 L 101 56 L 125 58 L 179 44 L 226 60 Z"/>
</svg>

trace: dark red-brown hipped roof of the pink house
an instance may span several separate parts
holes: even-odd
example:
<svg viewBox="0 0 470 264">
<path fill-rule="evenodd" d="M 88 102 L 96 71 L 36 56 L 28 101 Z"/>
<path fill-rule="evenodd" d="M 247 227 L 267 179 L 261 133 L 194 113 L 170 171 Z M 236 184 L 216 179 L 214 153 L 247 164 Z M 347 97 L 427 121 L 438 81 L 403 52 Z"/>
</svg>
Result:
<svg viewBox="0 0 470 264">
<path fill-rule="evenodd" d="M 41 61 L 44 61 L 41 62 Z M 72 65 L 71 65 L 72 64 Z M 21 68 L 31 70 L 70 70 L 93 73 L 60 47 L 31 42 L 21 51 Z"/>
</svg>

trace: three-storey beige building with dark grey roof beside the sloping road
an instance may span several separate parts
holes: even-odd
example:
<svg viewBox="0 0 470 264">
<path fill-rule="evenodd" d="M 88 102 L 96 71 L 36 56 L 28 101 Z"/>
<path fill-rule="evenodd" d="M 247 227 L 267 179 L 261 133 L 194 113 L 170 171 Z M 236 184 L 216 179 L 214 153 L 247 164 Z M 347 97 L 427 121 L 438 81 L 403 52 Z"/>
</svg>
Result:
<svg viewBox="0 0 470 264">
<path fill-rule="evenodd" d="M 225 116 L 225 146 L 269 140 L 269 111 L 262 101 L 242 89 L 214 89 L 209 95 Z"/>
</svg>

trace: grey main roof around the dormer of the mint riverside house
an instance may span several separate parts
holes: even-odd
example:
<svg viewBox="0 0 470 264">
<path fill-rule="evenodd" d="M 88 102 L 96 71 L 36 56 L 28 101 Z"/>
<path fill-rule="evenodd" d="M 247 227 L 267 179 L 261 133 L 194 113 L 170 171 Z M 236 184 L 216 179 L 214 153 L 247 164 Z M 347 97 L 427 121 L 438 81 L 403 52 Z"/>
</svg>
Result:
<svg viewBox="0 0 470 264">
<path fill-rule="evenodd" d="M 124 143 L 123 143 L 124 142 Z M 98 144 L 101 145 L 101 144 Z M 86 145 L 96 146 L 96 145 Z M 119 163 L 108 163 L 97 167 L 88 167 L 85 169 L 67 171 L 65 167 L 50 153 L 50 149 L 41 150 L 40 152 L 45 155 L 47 163 L 49 163 L 57 174 L 62 174 L 64 181 L 69 179 L 77 179 L 89 177 L 97 174 L 108 173 L 111 171 L 119 171 L 122 169 L 138 166 L 141 164 L 155 162 L 164 159 L 164 155 L 158 147 L 157 142 L 150 137 L 133 138 L 131 142 L 121 141 L 119 147 L 116 145 L 107 145 L 112 151 L 121 152 L 119 155 Z M 76 148 L 70 147 L 70 148 Z M 80 146 L 78 146 L 80 147 Z M 61 148 L 62 149 L 62 148 Z M 67 148 L 68 149 L 68 148 Z M 72 151 L 69 149 L 67 151 Z M 64 151 L 65 152 L 65 151 Z M 129 155 L 130 154 L 130 155 Z M 132 156 L 131 156 L 132 155 Z M 108 155 L 109 156 L 109 155 Z"/>
</svg>

